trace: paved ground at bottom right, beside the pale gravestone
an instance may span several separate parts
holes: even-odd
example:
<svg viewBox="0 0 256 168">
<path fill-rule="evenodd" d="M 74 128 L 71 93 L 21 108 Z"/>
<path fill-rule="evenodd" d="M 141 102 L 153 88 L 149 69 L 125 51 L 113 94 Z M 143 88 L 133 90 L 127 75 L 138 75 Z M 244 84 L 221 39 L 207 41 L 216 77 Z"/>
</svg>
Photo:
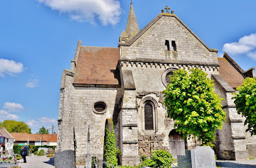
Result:
<svg viewBox="0 0 256 168">
<path fill-rule="evenodd" d="M 228 168 L 256 168 L 256 159 L 248 161 L 216 161 L 216 166 Z"/>
</svg>

